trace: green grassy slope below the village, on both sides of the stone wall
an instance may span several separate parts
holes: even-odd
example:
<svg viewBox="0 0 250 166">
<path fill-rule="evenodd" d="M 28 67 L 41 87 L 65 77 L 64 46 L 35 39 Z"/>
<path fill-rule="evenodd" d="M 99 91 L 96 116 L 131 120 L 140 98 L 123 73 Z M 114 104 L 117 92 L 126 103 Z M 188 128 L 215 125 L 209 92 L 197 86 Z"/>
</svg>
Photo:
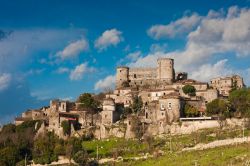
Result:
<svg viewBox="0 0 250 166">
<path fill-rule="evenodd" d="M 193 147 L 198 143 L 209 143 L 215 140 L 242 137 L 241 129 L 207 129 L 189 135 L 163 136 L 149 141 L 125 140 L 111 138 L 108 140 L 84 141 L 83 147 L 89 152 L 91 158 L 111 158 L 122 156 L 126 162 L 115 165 L 242 165 L 249 160 L 250 145 L 219 147 L 203 151 L 181 152 L 185 147 Z M 244 131 L 245 136 L 250 135 L 250 130 Z M 149 158 L 145 161 L 130 161 L 130 157 L 144 156 L 146 153 L 154 154 L 155 151 L 165 152 L 164 156 Z M 106 165 L 113 165 L 109 163 Z"/>
</svg>

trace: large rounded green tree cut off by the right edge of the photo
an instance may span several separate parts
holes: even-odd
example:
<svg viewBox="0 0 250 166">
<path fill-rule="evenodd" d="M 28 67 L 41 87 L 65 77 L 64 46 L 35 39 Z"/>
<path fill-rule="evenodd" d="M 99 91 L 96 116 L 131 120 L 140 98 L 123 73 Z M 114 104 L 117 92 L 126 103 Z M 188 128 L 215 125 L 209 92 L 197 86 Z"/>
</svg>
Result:
<svg viewBox="0 0 250 166">
<path fill-rule="evenodd" d="M 231 109 L 242 117 L 250 117 L 250 89 L 237 89 L 229 94 Z"/>
</svg>

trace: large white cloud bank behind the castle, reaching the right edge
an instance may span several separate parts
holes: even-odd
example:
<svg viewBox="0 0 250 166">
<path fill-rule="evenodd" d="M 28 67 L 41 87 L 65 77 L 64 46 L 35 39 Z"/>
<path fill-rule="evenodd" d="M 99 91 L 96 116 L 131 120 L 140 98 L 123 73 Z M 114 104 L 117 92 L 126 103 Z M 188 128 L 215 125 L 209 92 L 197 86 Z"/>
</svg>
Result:
<svg viewBox="0 0 250 166">
<path fill-rule="evenodd" d="M 129 66 L 155 67 L 157 58 L 169 57 L 175 59 L 176 71 L 189 72 L 195 79 L 208 80 L 218 74 L 234 73 L 225 59 L 215 64 L 211 60 L 221 54 L 250 56 L 250 9 L 236 8 L 229 8 L 225 14 L 221 11 L 211 14 L 210 11 L 201 17 L 198 27 L 188 34 L 183 50 L 151 52 Z"/>
</svg>

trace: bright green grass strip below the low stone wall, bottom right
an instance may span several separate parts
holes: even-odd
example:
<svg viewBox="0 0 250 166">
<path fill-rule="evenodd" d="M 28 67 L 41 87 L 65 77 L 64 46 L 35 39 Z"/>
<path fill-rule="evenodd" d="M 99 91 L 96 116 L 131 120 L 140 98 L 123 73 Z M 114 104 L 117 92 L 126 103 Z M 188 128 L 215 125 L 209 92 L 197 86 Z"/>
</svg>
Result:
<svg viewBox="0 0 250 166">
<path fill-rule="evenodd" d="M 145 161 L 131 161 L 117 165 L 133 166 L 192 166 L 197 163 L 202 166 L 243 165 L 250 163 L 250 145 L 224 146 L 202 151 L 168 153 L 165 156 L 151 158 Z"/>
</svg>

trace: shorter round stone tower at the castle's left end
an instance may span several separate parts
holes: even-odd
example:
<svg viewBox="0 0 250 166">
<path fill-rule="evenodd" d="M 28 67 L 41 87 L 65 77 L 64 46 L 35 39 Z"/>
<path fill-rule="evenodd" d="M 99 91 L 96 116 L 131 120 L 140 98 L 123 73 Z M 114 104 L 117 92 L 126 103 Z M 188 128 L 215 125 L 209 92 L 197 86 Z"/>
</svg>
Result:
<svg viewBox="0 0 250 166">
<path fill-rule="evenodd" d="M 116 88 L 121 88 L 123 82 L 128 82 L 129 68 L 121 66 L 116 68 Z"/>
</svg>

